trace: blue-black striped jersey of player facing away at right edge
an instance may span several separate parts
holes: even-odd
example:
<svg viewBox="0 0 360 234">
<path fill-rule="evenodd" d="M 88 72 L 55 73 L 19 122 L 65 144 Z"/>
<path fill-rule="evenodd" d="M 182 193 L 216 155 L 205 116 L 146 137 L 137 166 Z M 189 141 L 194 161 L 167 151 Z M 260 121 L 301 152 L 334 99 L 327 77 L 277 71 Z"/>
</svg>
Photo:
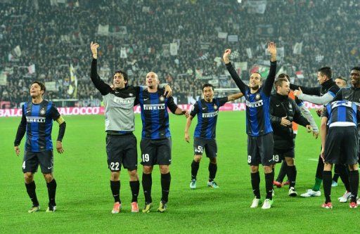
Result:
<svg viewBox="0 0 360 234">
<path fill-rule="evenodd" d="M 357 105 L 348 100 L 338 100 L 326 105 L 323 117 L 328 118 L 328 126 L 356 126 L 359 112 Z"/>
</svg>

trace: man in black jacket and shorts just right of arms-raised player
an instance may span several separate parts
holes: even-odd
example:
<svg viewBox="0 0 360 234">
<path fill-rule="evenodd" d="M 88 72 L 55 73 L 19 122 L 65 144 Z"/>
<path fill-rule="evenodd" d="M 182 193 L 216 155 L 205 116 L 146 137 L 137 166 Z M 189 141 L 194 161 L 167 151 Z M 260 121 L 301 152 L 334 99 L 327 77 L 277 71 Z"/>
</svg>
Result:
<svg viewBox="0 0 360 234">
<path fill-rule="evenodd" d="M 296 197 L 295 190 L 296 167 L 295 157 L 295 138 L 293 133 L 293 122 L 305 126 L 311 131 L 311 125 L 307 119 L 302 116 L 299 107 L 294 100 L 288 97 L 290 84 L 287 79 L 278 79 L 275 82 L 276 93 L 270 98 L 270 117 L 271 126 L 274 129 L 274 162 L 285 160 L 287 174 L 290 181 L 289 196 Z"/>
</svg>

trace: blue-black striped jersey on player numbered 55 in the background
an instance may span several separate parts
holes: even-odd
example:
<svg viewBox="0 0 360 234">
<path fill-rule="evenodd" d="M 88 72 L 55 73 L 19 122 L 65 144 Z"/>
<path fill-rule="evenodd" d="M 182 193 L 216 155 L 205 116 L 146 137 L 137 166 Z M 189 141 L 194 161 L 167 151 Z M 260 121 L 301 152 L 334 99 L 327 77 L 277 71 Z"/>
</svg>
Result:
<svg viewBox="0 0 360 234">
<path fill-rule="evenodd" d="M 213 98 L 212 103 L 207 103 L 204 99 L 198 100 L 193 105 L 190 115 L 198 115 L 194 137 L 212 139 L 216 136 L 217 115 L 219 108 L 228 101 L 228 97 Z"/>
</svg>

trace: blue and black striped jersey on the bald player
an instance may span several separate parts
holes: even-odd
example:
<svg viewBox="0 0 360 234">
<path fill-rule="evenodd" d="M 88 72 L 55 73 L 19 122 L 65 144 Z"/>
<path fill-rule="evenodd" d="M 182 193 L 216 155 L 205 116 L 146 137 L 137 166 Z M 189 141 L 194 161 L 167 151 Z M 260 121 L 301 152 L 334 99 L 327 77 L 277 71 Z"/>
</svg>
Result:
<svg viewBox="0 0 360 234">
<path fill-rule="evenodd" d="M 175 112 L 177 105 L 174 98 L 163 96 L 164 89 L 156 93 L 149 93 L 148 89 L 140 87 L 139 103 L 141 107 L 141 121 L 143 122 L 142 138 L 161 139 L 171 136 L 169 129 L 169 113 Z"/>
</svg>

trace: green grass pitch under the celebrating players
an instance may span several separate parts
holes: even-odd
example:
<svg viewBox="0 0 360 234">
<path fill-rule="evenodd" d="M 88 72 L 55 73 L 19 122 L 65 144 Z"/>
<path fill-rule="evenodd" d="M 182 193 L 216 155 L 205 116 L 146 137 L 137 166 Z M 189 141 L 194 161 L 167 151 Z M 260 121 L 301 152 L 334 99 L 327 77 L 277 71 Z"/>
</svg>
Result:
<svg viewBox="0 0 360 234">
<path fill-rule="evenodd" d="M 319 118 L 316 117 L 319 120 Z M 337 197 L 345 192 L 333 188 L 333 210 L 320 207 L 321 197 L 288 197 L 288 188 L 275 188 L 274 207 L 250 209 L 253 199 L 250 169 L 247 164 L 245 112 L 220 112 L 217 123 L 219 189 L 207 188 L 207 165 L 203 157 L 198 174 L 198 188 L 191 190 L 193 138 L 184 141 L 184 116 L 171 115 L 172 184 L 165 214 L 156 211 L 160 201 L 160 172 L 153 171 L 153 212 L 131 214 L 131 192 L 127 171 L 121 172 L 122 212 L 110 214 L 113 197 L 110 173 L 106 164 L 103 116 L 65 116 L 67 129 L 65 153 L 54 152 L 54 176 L 58 183 L 58 210 L 49 214 L 46 183 L 35 175 L 41 212 L 27 214 L 30 199 L 23 181 L 21 155 L 16 157 L 13 140 L 20 122 L 18 117 L 0 119 L 0 233 L 340 233 L 359 231 L 359 210 L 340 204 Z M 191 132 L 195 128 L 193 120 Z M 318 121 L 319 124 L 319 121 Z M 53 139 L 58 134 L 53 127 Z M 304 193 L 314 184 L 320 138 L 314 138 L 300 127 L 296 143 L 297 192 Z M 136 115 L 136 137 L 141 136 L 141 119 Z M 140 162 L 140 150 L 138 152 Z M 276 175 L 279 167 L 276 168 Z M 142 167 L 139 165 L 139 177 Z M 261 170 L 264 197 L 264 174 Z M 321 193 L 323 190 L 321 188 Z M 139 206 L 143 207 L 140 188 Z"/>
</svg>

